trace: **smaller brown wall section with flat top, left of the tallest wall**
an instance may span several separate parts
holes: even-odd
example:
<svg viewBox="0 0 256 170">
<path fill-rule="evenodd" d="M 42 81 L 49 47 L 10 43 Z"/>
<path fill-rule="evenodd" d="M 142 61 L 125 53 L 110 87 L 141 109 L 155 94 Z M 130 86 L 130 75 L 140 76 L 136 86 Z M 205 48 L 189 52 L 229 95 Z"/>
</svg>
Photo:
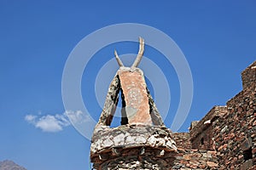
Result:
<svg viewBox="0 0 256 170">
<path fill-rule="evenodd" d="M 190 140 L 193 149 L 214 150 L 212 128 L 219 126 L 215 121 L 227 112 L 226 106 L 214 106 L 195 126 L 190 127 Z"/>
</svg>

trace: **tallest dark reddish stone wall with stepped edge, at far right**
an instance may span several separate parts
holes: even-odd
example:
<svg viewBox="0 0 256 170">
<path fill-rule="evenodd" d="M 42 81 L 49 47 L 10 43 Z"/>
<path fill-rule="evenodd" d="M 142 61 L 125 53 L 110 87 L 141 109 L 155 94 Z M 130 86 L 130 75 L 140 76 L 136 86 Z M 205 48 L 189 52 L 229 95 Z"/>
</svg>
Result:
<svg viewBox="0 0 256 170">
<path fill-rule="evenodd" d="M 243 90 L 227 102 L 228 113 L 215 122 L 213 136 L 220 169 L 256 169 L 256 70 L 253 65 L 241 73 Z"/>
</svg>

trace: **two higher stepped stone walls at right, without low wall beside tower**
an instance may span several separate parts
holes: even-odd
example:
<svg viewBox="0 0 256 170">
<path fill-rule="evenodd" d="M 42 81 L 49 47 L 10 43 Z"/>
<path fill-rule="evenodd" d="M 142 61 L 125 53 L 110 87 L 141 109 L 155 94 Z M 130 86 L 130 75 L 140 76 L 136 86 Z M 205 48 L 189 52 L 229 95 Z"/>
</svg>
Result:
<svg viewBox="0 0 256 170">
<path fill-rule="evenodd" d="M 255 69 L 256 62 L 242 71 L 243 89 L 227 102 L 226 109 L 222 107 L 221 114 L 213 107 L 190 129 L 192 148 L 217 151 L 218 169 L 256 169 Z M 207 146 L 200 143 L 201 138 Z"/>
</svg>

